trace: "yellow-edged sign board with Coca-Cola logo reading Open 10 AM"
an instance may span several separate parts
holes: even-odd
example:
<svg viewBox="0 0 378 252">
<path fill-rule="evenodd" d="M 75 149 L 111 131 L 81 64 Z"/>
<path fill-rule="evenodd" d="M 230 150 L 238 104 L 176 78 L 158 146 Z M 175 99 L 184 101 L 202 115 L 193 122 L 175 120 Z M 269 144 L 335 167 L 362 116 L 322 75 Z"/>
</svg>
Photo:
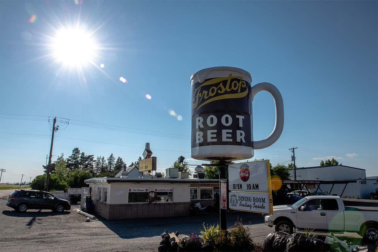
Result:
<svg viewBox="0 0 378 252">
<path fill-rule="evenodd" d="M 228 165 L 229 209 L 273 214 L 269 160 Z"/>
</svg>

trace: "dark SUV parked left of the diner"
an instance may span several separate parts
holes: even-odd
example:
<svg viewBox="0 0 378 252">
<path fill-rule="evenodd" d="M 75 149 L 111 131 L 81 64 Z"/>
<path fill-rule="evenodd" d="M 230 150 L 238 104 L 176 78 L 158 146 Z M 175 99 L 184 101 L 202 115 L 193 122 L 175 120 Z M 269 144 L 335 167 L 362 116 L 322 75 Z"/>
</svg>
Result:
<svg viewBox="0 0 378 252">
<path fill-rule="evenodd" d="M 60 213 L 71 209 L 71 204 L 68 200 L 59 199 L 48 192 L 23 189 L 17 189 L 12 192 L 6 205 L 19 212 L 26 212 L 28 209 L 51 209 Z"/>
</svg>

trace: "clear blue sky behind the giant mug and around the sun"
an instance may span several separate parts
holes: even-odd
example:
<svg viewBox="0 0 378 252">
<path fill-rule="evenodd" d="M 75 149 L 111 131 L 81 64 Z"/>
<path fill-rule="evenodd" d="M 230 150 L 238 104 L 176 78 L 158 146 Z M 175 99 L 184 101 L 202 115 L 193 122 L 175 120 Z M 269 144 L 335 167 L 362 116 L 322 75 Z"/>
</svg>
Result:
<svg viewBox="0 0 378 252">
<path fill-rule="evenodd" d="M 50 149 L 48 116 L 70 119 L 56 133 L 53 155 L 67 157 L 79 147 L 95 156 L 113 153 L 130 164 L 150 142 L 158 169 L 170 167 L 179 155 L 190 158 L 189 80 L 212 66 L 243 68 L 252 85 L 271 82 L 282 93 L 283 133 L 273 146 L 256 150 L 256 158 L 286 162 L 288 148 L 298 147 L 299 167 L 335 157 L 377 175 L 376 1 L 76 2 L 0 2 L 5 182 L 42 173 Z M 81 74 L 49 55 L 56 31 L 77 20 L 81 29 L 94 31 L 100 46 L 96 66 L 83 65 Z M 257 94 L 253 116 L 254 139 L 263 139 L 274 125 L 270 94 Z"/>
</svg>

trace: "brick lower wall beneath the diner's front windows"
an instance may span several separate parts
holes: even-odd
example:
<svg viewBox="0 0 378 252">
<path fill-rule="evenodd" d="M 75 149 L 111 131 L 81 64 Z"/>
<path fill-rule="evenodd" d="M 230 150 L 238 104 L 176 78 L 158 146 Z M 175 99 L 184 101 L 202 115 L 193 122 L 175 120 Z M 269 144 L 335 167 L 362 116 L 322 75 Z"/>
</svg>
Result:
<svg viewBox="0 0 378 252">
<path fill-rule="evenodd" d="M 96 213 L 106 220 L 185 216 L 189 215 L 190 206 L 189 202 L 107 204 L 97 201 Z"/>
</svg>

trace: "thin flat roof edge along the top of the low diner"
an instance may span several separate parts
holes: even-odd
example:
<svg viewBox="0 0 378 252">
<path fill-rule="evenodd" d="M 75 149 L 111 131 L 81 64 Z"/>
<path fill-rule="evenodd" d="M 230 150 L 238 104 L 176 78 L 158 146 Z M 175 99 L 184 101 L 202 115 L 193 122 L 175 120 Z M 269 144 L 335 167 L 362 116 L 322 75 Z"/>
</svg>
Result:
<svg viewBox="0 0 378 252">
<path fill-rule="evenodd" d="M 90 178 L 85 179 L 86 184 L 91 183 L 188 183 L 188 184 L 201 184 L 201 183 L 219 183 L 218 179 L 178 179 L 178 178 Z"/>
</svg>

